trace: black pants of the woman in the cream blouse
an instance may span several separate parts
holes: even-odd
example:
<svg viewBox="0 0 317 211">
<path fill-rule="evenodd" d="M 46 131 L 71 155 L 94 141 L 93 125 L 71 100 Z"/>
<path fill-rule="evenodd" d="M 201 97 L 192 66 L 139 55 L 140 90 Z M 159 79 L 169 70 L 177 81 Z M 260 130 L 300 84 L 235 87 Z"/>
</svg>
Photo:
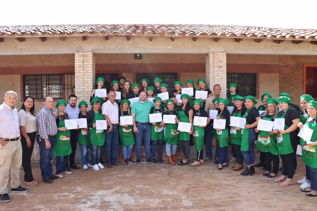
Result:
<svg viewBox="0 0 317 211">
<path fill-rule="evenodd" d="M 31 140 L 31 147 L 27 147 L 26 139 L 21 134 L 21 145 L 22 145 L 22 167 L 24 171 L 24 181 L 25 182 L 32 182 L 33 175 L 31 169 L 31 156 L 34 147 L 34 140 L 36 137 L 36 132 L 27 133 L 30 140 Z"/>
</svg>

